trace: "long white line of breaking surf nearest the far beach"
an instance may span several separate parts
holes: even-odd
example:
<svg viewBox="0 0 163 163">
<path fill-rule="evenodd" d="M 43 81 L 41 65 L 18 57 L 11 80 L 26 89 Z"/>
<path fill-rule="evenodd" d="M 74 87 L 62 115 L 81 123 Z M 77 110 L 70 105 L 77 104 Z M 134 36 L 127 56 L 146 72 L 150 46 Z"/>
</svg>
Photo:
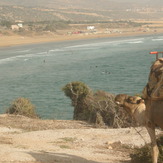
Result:
<svg viewBox="0 0 163 163">
<path fill-rule="evenodd" d="M 161 39 L 161 38 L 160 38 Z M 48 56 L 54 56 L 59 52 L 65 52 L 70 50 L 91 50 L 91 49 L 101 49 L 106 46 L 118 46 L 120 44 L 138 44 L 143 43 L 144 38 L 135 38 L 135 39 L 120 39 L 120 40 L 109 40 L 109 41 L 103 41 L 103 42 L 95 42 L 95 43 L 86 43 L 86 44 L 79 44 L 79 45 L 73 45 L 73 46 L 67 46 L 63 48 L 56 48 L 56 49 L 49 49 L 44 50 L 41 52 L 33 52 L 31 49 L 25 49 L 25 50 L 17 50 L 13 53 L 17 53 L 17 56 L 9 57 L 5 59 L 0 60 L 0 64 L 11 62 L 14 60 L 20 60 L 21 58 L 24 61 L 27 61 L 29 58 L 38 58 L 38 57 L 48 57 Z M 30 52 L 30 53 L 29 53 Z M 72 52 L 73 53 L 73 52 Z"/>
</svg>

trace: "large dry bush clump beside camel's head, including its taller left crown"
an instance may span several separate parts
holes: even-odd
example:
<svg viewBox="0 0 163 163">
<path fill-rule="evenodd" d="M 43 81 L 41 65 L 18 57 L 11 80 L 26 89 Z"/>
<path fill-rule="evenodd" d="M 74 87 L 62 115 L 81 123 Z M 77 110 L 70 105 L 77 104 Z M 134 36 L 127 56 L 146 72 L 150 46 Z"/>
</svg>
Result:
<svg viewBox="0 0 163 163">
<path fill-rule="evenodd" d="M 75 120 L 114 128 L 131 126 L 131 118 L 114 102 L 115 96 L 104 91 L 93 92 L 82 82 L 71 82 L 63 91 L 72 101 Z"/>
</svg>

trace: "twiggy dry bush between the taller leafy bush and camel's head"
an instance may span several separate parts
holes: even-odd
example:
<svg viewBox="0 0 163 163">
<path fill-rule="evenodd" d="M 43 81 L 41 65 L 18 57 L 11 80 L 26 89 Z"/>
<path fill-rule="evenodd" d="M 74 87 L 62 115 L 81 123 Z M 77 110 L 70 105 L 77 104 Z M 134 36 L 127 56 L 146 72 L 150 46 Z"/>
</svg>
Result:
<svg viewBox="0 0 163 163">
<path fill-rule="evenodd" d="M 97 125 L 107 125 L 113 128 L 131 126 L 131 118 L 114 102 L 115 96 L 105 91 L 97 91 L 87 97 L 89 121 Z"/>
</svg>

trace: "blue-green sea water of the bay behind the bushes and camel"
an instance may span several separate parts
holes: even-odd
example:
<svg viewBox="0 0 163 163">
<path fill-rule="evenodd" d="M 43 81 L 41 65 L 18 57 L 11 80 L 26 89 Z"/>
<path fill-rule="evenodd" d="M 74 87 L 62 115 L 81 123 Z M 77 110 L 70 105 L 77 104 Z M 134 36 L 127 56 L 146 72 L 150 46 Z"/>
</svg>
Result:
<svg viewBox="0 0 163 163">
<path fill-rule="evenodd" d="M 0 49 L 0 113 L 18 97 L 29 98 L 44 119 L 72 119 L 62 87 L 82 81 L 92 90 L 141 93 L 150 51 L 163 51 L 163 35 L 52 42 Z"/>
</svg>

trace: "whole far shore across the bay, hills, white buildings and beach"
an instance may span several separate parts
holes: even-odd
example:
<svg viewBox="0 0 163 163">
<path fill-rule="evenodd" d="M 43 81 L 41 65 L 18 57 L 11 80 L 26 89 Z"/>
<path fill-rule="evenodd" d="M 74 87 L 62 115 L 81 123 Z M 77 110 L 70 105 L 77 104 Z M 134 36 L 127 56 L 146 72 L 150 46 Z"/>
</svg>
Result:
<svg viewBox="0 0 163 163">
<path fill-rule="evenodd" d="M 162 6 L 162 0 L 0 0 L 0 36 L 5 40 L 6 36 L 21 36 L 17 41 L 24 44 L 37 36 L 51 41 L 60 36 L 162 33 Z M 15 39 L 11 40 L 2 46 L 15 45 Z"/>
</svg>

